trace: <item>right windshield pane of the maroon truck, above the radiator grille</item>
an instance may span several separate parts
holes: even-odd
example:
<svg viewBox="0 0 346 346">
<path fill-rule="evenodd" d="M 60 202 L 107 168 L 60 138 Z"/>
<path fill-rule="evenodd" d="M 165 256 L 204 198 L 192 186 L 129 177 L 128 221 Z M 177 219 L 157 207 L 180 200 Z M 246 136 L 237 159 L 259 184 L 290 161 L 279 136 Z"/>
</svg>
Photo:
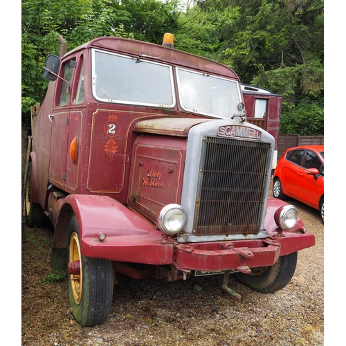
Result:
<svg viewBox="0 0 346 346">
<path fill-rule="evenodd" d="M 183 109 L 226 118 L 237 113 L 237 105 L 242 100 L 237 82 L 190 70 L 176 70 Z"/>
</svg>

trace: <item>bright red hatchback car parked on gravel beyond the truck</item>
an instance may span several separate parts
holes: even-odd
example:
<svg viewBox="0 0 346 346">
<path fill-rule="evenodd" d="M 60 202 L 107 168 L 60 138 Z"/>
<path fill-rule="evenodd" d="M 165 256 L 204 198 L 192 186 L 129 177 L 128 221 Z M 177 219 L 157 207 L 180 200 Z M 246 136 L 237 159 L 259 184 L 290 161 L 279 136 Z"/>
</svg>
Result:
<svg viewBox="0 0 346 346">
<path fill-rule="evenodd" d="M 289 148 L 277 163 L 273 176 L 273 197 L 286 196 L 320 211 L 325 219 L 324 145 Z"/>
</svg>

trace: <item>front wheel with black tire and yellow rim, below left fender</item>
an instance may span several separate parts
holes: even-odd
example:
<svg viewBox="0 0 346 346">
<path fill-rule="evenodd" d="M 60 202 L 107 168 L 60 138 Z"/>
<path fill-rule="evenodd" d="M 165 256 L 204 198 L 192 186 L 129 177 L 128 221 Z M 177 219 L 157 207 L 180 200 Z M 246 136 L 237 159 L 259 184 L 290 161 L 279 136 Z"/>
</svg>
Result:
<svg viewBox="0 0 346 346">
<path fill-rule="evenodd" d="M 69 274 L 69 302 L 82 327 L 101 325 L 109 316 L 113 298 L 113 264 L 85 257 L 80 252 L 80 235 L 75 216 L 69 226 L 68 262 L 79 264 L 79 273 Z"/>
</svg>

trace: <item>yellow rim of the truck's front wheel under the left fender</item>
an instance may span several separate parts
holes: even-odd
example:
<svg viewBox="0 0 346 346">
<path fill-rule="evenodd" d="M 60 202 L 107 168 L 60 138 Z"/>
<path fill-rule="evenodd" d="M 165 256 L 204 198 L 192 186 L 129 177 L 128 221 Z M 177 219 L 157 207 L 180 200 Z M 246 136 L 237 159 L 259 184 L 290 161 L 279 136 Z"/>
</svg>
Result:
<svg viewBox="0 0 346 346">
<path fill-rule="evenodd" d="M 80 300 L 82 298 L 82 258 L 80 255 L 80 241 L 78 239 L 77 233 L 73 232 L 70 239 L 69 246 L 69 262 L 80 262 L 80 274 L 70 275 L 71 282 L 71 290 L 73 294 L 73 298 L 76 304 L 80 304 Z"/>
</svg>

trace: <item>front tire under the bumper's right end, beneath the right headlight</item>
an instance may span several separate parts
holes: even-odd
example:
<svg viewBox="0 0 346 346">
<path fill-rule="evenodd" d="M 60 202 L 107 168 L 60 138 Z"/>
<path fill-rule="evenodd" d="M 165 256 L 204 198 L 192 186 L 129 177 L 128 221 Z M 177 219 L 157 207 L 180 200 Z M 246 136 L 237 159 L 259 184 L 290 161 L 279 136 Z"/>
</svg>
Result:
<svg viewBox="0 0 346 346">
<path fill-rule="evenodd" d="M 293 277 L 298 253 L 279 257 L 273 266 L 253 268 L 253 273 L 235 273 L 235 277 L 247 286 L 261 293 L 272 293 L 286 286 Z"/>
</svg>

